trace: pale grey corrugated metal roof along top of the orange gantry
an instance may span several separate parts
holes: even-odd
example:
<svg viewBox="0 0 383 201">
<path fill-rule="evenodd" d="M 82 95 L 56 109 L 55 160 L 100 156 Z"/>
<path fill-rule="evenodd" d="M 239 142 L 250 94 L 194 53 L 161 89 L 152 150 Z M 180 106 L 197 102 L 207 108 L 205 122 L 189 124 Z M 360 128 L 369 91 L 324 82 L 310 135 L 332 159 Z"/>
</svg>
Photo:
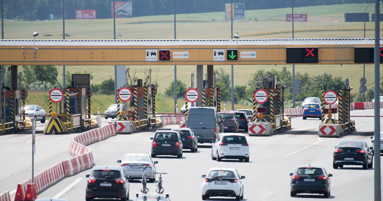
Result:
<svg viewBox="0 0 383 201">
<path fill-rule="evenodd" d="M 375 39 L 238 39 L 238 45 L 373 45 Z M 380 39 L 382 44 L 383 39 Z M 33 45 L 33 40 L 0 40 L 0 46 Z M 214 40 L 35 40 L 39 46 L 127 46 L 127 45 L 237 45 L 235 39 Z"/>
</svg>

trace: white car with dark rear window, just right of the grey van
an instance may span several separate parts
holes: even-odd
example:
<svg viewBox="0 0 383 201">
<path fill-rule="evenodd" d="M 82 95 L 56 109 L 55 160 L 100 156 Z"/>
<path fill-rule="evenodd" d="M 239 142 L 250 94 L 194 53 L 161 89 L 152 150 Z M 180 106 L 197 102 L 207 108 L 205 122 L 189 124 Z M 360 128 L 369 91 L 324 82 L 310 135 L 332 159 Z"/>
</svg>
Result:
<svg viewBox="0 0 383 201">
<path fill-rule="evenodd" d="M 211 148 L 211 159 L 239 159 L 249 162 L 250 151 L 246 136 L 242 133 L 219 133 Z"/>
</svg>

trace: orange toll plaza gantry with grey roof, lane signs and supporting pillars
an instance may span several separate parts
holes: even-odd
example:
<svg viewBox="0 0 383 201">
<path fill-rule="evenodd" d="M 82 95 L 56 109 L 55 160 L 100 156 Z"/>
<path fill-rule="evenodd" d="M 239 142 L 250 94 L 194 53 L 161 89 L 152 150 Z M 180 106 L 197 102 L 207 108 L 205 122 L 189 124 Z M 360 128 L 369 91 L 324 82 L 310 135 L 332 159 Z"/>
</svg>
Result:
<svg viewBox="0 0 383 201">
<path fill-rule="evenodd" d="M 214 83 L 214 65 L 370 64 L 374 39 L 0 40 L 0 65 L 9 65 L 13 101 L 18 65 L 196 65 L 196 89 Z M 382 39 L 380 39 L 382 43 Z M 35 48 L 37 47 L 37 48 Z M 382 55 L 382 54 L 381 54 Z M 371 59 L 372 58 L 372 59 Z M 382 63 L 382 57 L 380 58 Z M 204 86 L 203 65 L 207 66 Z M 342 68 L 339 66 L 339 68 Z M 206 85 L 206 83 L 205 83 Z M 216 86 L 215 86 L 216 87 Z M 214 88 L 215 88 L 214 87 Z M 208 92 L 209 93 L 209 92 Z M 213 92 L 214 93 L 214 92 Z M 15 96 L 19 94 L 19 96 Z M 5 93 L 7 98 L 7 93 Z M 3 99 L 3 93 L 2 93 Z M 201 106 L 202 96 L 196 101 Z M 205 102 L 205 104 L 207 101 Z M 15 111 L 16 105 L 13 105 Z M 20 118 L 4 118 L 15 125 Z M 13 114 L 15 116 L 15 114 Z M 4 129 L 0 129 L 4 130 Z"/>
</svg>

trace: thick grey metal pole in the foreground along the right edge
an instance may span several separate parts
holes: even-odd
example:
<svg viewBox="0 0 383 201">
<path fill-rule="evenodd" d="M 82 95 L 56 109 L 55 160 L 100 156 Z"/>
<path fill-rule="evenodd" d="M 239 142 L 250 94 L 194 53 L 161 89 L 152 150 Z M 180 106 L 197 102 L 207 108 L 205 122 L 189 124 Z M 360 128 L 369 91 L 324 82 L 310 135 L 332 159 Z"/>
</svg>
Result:
<svg viewBox="0 0 383 201">
<path fill-rule="evenodd" d="M 380 141 L 380 5 L 379 1 L 375 0 L 375 80 L 374 80 L 374 138 L 375 142 Z M 381 201 L 381 178 L 380 178 L 380 143 L 374 144 L 374 191 L 375 201 Z"/>
</svg>

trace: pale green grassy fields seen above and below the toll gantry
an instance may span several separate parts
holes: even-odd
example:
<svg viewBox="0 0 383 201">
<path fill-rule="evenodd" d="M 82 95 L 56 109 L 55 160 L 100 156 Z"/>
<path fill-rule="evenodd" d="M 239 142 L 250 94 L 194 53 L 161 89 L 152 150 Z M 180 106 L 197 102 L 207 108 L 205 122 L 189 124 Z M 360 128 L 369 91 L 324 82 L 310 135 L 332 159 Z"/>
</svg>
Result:
<svg viewBox="0 0 383 201">
<path fill-rule="evenodd" d="M 344 22 L 344 13 L 364 12 L 368 3 L 329 6 L 309 6 L 294 8 L 294 13 L 307 13 L 309 22 L 294 23 L 294 38 L 362 38 L 363 22 Z M 370 8 L 371 7 L 371 8 Z M 374 12 L 370 6 L 367 12 Z M 291 8 L 249 10 L 246 20 L 234 21 L 233 32 L 239 32 L 241 39 L 278 39 L 292 37 L 292 23 L 285 22 Z M 231 22 L 224 20 L 224 12 L 177 14 L 177 39 L 230 39 Z M 257 18 L 258 21 L 255 21 Z M 252 19 L 253 22 L 249 22 Z M 130 39 L 173 39 L 173 15 L 145 16 L 116 19 L 116 33 L 121 40 Z M 5 21 L 5 39 L 33 39 L 32 32 L 39 32 L 36 39 L 62 39 L 62 20 L 51 21 Z M 65 20 L 65 39 L 113 39 L 113 19 Z M 53 36 L 44 36 L 51 34 Z M 366 37 L 374 37 L 374 23 L 366 23 Z M 292 65 L 286 65 L 292 72 Z M 62 66 L 56 66 L 58 80 L 62 82 Z M 137 77 L 144 77 L 144 70 L 152 68 L 152 82 L 159 84 L 159 93 L 164 93 L 174 79 L 174 66 L 129 66 Z M 214 66 L 231 72 L 231 66 Z M 70 72 L 90 72 L 94 79 L 91 84 L 114 79 L 113 66 L 65 66 Z M 282 69 L 282 65 L 243 65 L 234 66 L 234 85 L 247 85 L 252 74 L 258 69 Z M 177 66 L 177 79 L 190 86 L 190 73 L 196 66 Z M 206 69 L 205 69 L 206 71 Z M 295 65 L 295 71 L 316 76 L 327 72 L 333 76 L 348 78 L 352 91 L 356 93 L 363 77 L 363 65 Z M 205 74 L 205 72 L 204 72 Z M 367 86 L 373 86 L 374 66 L 366 65 Z M 113 97 L 110 98 L 113 100 Z M 171 101 L 169 104 L 173 104 Z M 106 103 L 105 103 L 106 104 Z M 178 105 L 182 105 L 179 103 Z M 105 108 L 109 105 L 102 106 Z M 101 108 L 101 107 L 100 107 Z M 101 109 L 100 109 L 101 110 Z M 172 111 L 172 108 L 170 109 Z"/>
</svg>

